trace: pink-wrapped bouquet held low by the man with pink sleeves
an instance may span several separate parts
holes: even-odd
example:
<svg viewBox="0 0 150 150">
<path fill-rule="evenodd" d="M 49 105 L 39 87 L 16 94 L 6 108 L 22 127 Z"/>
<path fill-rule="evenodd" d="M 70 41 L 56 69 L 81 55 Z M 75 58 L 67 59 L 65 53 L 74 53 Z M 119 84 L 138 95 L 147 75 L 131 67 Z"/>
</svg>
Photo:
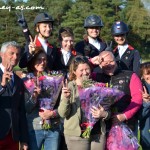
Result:
<svg viewBox="0 0 150 150">
<path fill-rule="evenodd" d="M 112 126 L 107 138 L 107 150 L 138 150 L 138 148 L 138 140 L 126 124 Z"/>
</svg>

